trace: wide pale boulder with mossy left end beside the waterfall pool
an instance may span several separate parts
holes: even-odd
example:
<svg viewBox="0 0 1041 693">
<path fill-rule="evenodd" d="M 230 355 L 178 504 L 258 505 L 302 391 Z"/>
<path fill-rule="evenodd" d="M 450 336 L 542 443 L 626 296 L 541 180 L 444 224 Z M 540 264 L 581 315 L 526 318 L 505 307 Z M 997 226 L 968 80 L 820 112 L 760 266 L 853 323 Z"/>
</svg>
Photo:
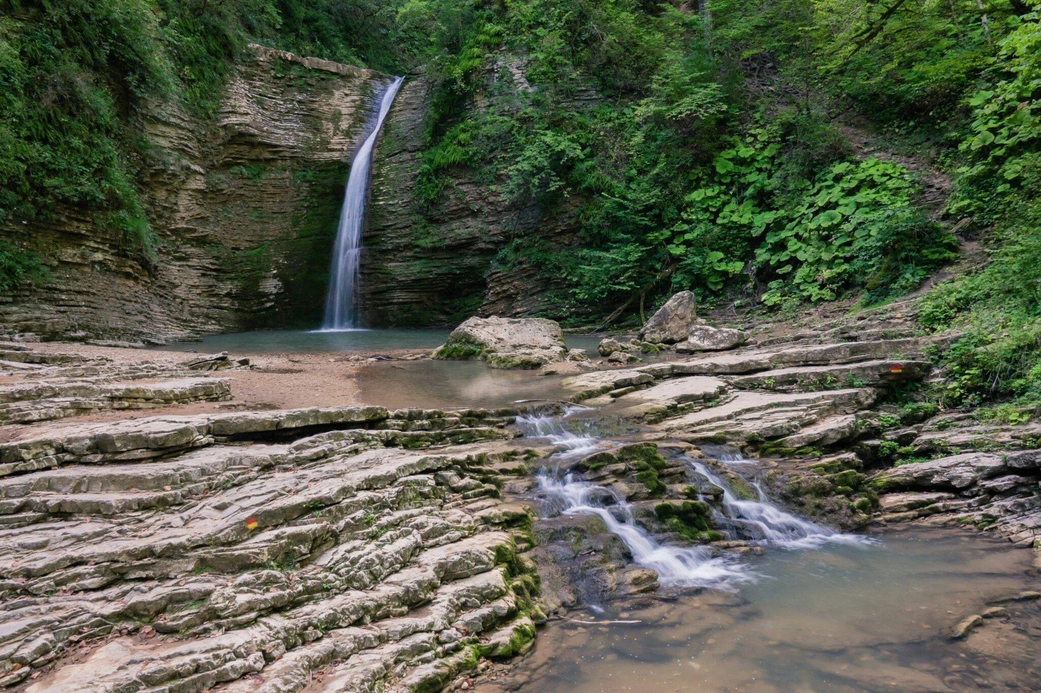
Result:
<svg viewBox="0 0 1041 693">
<path fill-rule="evenodd" d="M 469 318 L 452 330 L 434 358 L 483 358 L 492 368 L 539 368 L 567 355 L 564 332 L 542 318 Z"/>
</svg>

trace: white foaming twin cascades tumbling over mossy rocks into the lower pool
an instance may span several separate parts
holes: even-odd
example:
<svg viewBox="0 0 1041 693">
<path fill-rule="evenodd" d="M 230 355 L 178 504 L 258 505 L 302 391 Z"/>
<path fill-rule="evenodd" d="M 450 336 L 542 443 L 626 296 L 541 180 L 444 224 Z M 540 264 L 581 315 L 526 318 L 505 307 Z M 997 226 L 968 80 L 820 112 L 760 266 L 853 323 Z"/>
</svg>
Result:
<svg viewBox="0 0 1041 693">
<path fill-rule="evenodd" d="M 583 481 L 567 472 L 570 462 L 598 450 L 613 446 L 590 431 L 575 432 L 563 417 L 519 417 L 517 425 L 526 435 L 542 437 L 563 450 L 550 459 L 554 469 L 542 468 L 538 473 L 540 496 L 551 512 L 560 514 L 586 514 L 600 517 L 607 530 L 616 535 L 629 549 L 634 562 L 658 572 L 662 585 L 678 587 L 713 587 L 733 589 L 737 584 L 755 579 L 746 564 L 730 557 L 713 557 L 702 547 L 672 547 L 659 543 L 639 527 L 632 506 L 618 498 L 612 489 Z M 740 451 L 714 450 L 720 457 L 730 456 L 731 463 L 747 462 Z M 814 549 L 829 541 L 865 543 L 865 537 L 841 534 L 828 527 L 816 525 L 782 510 L 770 503 L 762 487 L 754 483 L 758 500 L 738 499 L 727 483 L 704 463 L 689 457 L 682 458 L 691 471 L 719 486 L 723 491 L 722 510 L 717 522 L 755 541 L 785 549 Z M 736 537 L 735 537 L 736 538 Z"/>
</svg>

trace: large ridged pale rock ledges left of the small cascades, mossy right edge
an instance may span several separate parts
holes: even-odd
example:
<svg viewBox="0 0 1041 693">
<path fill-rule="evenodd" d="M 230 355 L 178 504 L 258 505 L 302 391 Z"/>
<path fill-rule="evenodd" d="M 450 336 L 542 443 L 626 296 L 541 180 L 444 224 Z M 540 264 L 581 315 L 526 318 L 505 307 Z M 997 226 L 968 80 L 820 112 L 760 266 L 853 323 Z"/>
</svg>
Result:
<svg viewBox="0 0 1041 693">
<path fill-rule="evenodd" d="M 109 443 L 387 416 L 272 414 L 121 422 L 125 439 Z M 481 657 L 526 651 L 534 624 L 513 579 L 534 566 L 515 557 L 513 528 L 525 536 L 531 509 L 501 504 L 484 480 L 503 444 L 366 447 L 400 433 L 211 443 L 0 479 L 3 683 L 35 673 L 37 692 L 290 691 L 335 665 L 342 690 L 396 678 L 434 690 Z M 81 641 L 95 646 L 66 659 Z M 243 678 L 252 673 L 262 679 Z"/>
</svg>

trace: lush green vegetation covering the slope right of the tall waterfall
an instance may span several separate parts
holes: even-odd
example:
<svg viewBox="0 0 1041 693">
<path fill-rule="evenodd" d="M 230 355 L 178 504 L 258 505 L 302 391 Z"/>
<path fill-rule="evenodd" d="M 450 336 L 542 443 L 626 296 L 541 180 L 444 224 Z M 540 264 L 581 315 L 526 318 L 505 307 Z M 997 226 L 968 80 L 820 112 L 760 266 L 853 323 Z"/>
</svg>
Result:
<svg viewBox="0 0 1041 693">
<path fill-rule="evenodd" d="M 569 279 L 555 317 L 685 288 L 770 310 L 883 302 L 955 257 L 945 228 L 964 219 L 991 258 L 922 302 L 926 328 L 965 331 L 937 399 L 1041 397 L 1034 3 L 461 4 L 420 202 L 465 175 L 547 216 L 577 203 L 577 251 L 518 234 L 500 255 Z M 856 156 L 849 127 L 900 156 Z M 954 179 L 946 209 L 921 207 L 925 167 L 897 163 L 916 158 Z"/>
</svg>

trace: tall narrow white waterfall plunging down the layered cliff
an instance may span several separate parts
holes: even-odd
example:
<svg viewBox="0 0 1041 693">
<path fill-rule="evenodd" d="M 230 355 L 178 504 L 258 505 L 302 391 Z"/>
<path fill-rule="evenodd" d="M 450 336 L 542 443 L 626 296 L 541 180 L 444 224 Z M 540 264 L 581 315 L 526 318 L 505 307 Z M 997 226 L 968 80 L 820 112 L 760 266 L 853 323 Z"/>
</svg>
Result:
<svg viewBox="0 0 1041 693">
<path fill-rule="evenodd" d="M 361 226 L 365 218 L 365 198 L 369 194 L 369 172 L 373 164 L 373 148 L 380 133 L 383 118 L 404 77 L 396 78 L 383 92 L 380 110 L 373 131 L 362 142 L 351 162 L 351 174 L 344 192 L 344 207 L 336 226 L 336 243 L 329 268 L 329 291 L 326 294 L 323 330 L 357 328 L 358 261 L 361 256 Z"/>
</svg>

